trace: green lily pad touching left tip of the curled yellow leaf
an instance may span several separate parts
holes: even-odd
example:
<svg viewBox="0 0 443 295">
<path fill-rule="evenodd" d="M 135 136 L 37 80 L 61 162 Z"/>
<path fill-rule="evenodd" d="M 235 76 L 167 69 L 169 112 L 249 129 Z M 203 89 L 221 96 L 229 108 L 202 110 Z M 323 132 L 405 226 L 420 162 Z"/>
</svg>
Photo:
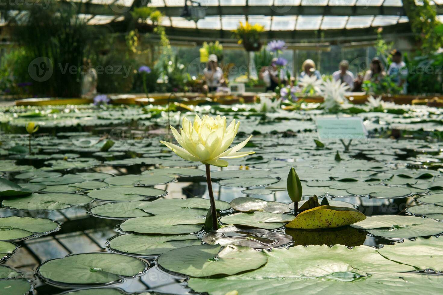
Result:
<svg viewBox="0 0 443 295">
<path fill-rule="evenodd" d="M 284 226 L 286 222 L 291 221 L 294 218 L 295 216 L 291 214 L 254 211 L 252 213 L 241 212 L 223 216 L 220 218 L 220 221 L 225 224 L 272 230 Z"/>
</svg>

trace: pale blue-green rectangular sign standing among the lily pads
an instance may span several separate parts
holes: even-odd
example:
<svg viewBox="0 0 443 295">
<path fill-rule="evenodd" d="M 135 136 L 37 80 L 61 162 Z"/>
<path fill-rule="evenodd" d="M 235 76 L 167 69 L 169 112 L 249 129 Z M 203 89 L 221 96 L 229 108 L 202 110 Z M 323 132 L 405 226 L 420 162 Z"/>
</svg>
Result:
<svg viewBox="0 0 443 295">
<path fill-rule="evenodd" d="M 361 140 L 368 136 L 363 120 L 358 117 L 318 118 L 317 132 L 319 133 L 319 139 L 325 141 Z"/>
</svg>

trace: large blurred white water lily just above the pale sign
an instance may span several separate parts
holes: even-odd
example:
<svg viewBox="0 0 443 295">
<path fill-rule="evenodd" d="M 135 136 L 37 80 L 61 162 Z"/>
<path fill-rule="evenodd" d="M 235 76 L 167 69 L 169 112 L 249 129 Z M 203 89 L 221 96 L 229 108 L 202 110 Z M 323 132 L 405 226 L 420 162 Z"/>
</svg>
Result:
<svg viewBox="0 0 443 295">
<path fill-rule="evenodd" d="M 339 80 L 326 80 L 320 86 L 320 95 L 323 96 L 323 108 L 331 110 L 334 108 L 348 108 L 349 103 L 345 94 L 350 87 L 346 83 L 340 83 Z"/>
</svg>

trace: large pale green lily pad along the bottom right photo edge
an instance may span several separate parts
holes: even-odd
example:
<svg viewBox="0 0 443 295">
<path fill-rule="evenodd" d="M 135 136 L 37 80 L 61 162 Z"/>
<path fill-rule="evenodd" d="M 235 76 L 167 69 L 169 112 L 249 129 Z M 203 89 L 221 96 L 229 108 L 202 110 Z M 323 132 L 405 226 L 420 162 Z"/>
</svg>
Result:
<svg viewBox="0 0 443 295">
<path fill-rule="evenodd" d="M 404 294 L 413 295 L 423 292 L 423 286 L 426 286 L 426 290 L 431 294 L 439 294 L 443 291 L 442 283 L 443 276 L 387 273 L 365 276 L 353 281 L 334 280 L 328 277 L 285 280 L 244 275 L 219 279 L 191 278 L 188 286 L 196 292 L 210 295 L 225 295 L 227 290 L 235 290 L 238 294 L 249 294 L 254 290 L 255 295 L 269 295 L 276 291 L 303 295 L 396 294 L 399 290 L 403 290 Z"/>
</svg>

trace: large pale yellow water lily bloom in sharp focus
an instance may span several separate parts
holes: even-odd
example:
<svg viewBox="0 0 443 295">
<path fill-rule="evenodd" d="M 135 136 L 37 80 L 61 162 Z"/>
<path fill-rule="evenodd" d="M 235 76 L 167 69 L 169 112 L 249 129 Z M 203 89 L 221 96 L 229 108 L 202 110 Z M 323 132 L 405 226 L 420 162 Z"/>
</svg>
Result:
<svg viewBox="0 0 443 295">
<path fill-rule="evenodd" d="M 228 149 L 239 127 L 240 122 L 236 123 L 235 120 L 232 120 L 226 127 L 226 117 L 221 118 L 219 115 L 216 118 L 204 115 L 202 119 L 196 115 L 194 123 L 183 118 L 180 134 L 171 126 L 172 134 L 181 147 L 170 142 L 160 142 L 185 160 L 226 167 L 229 163 L 221 158 L 233 159 L 255 153 L 239 152 L 249 142 L 252 135 L 237 146 Z"/>
</svg>

